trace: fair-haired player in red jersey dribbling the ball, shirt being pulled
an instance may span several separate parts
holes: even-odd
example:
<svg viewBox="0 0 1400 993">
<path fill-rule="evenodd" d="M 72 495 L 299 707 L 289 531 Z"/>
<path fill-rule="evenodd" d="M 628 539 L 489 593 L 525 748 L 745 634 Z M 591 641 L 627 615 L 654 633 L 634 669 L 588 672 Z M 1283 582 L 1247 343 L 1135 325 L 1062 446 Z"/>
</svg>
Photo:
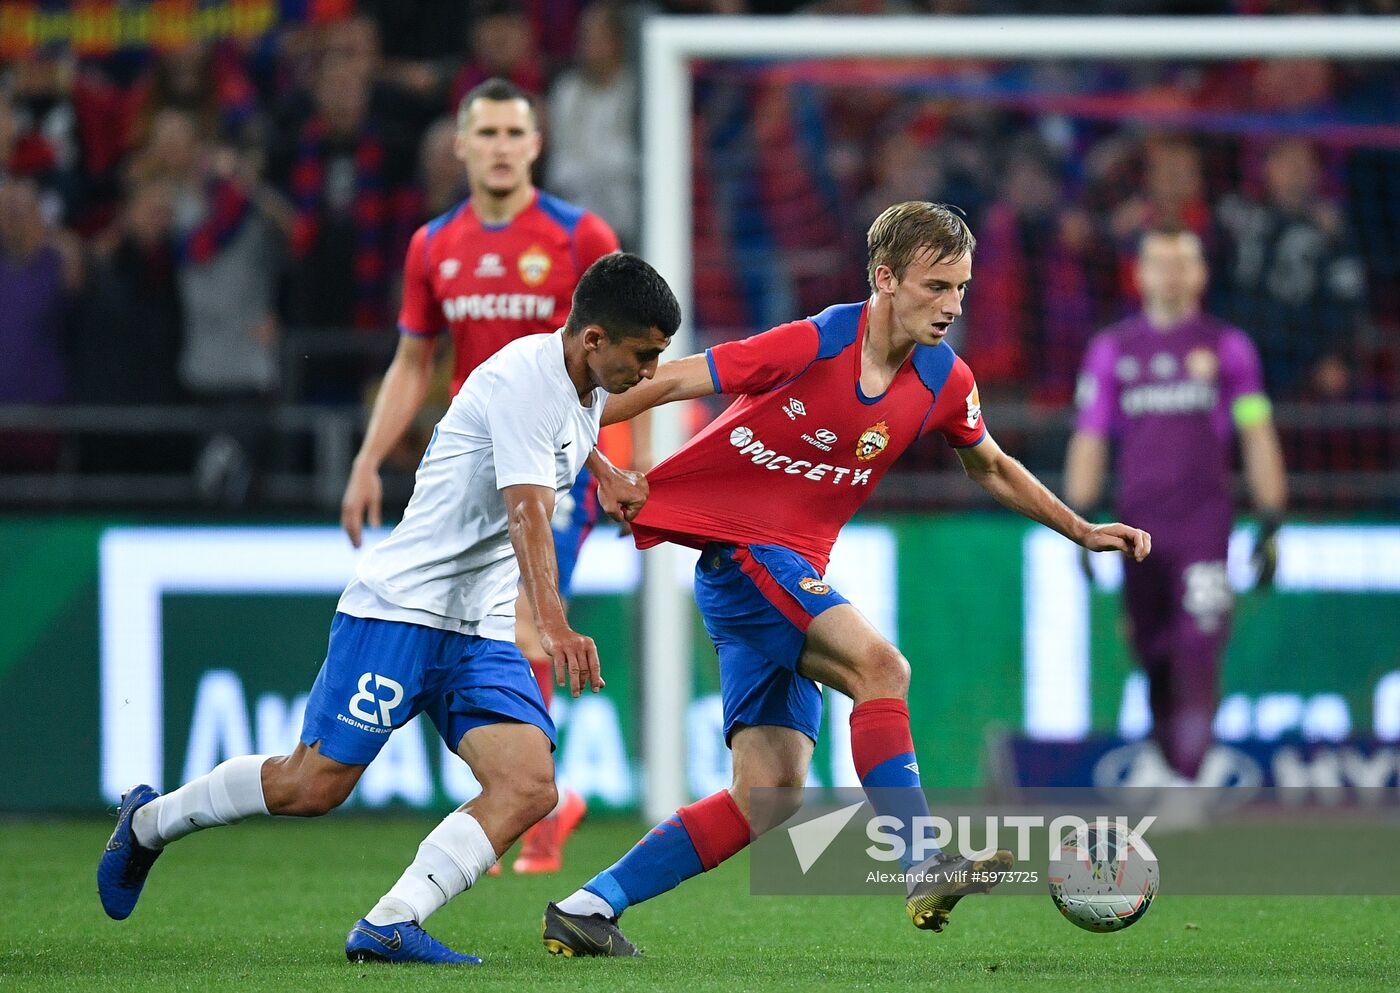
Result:
<svg viewBox="0 0 1400 993">
<path fill-rule="evenodd" d="M 700 549 L 696 605 L 720 655 L 734 784 L 682 807 L 550 903 L 542 937 L 554 954 L 637 954 L 617 929 L 623 910 L 714 868 L 792 812 L 753 824 L 749 791 L 806 783 L 819 682 L 855 702 L 855 770 L 875 811 L 903 824 L 903 868 L 921 880 L 906 899 L 917 927 L 942 930 L 965 894 L 987 888 L 956 880 L 1009 867 L 1007 852 L 913 859 L 914 818 L 928 807 L 909 725 L 909 662 L 823 578 L 837 532 L 916 438 L 942 434 L 998 501 L 1091 550 L 1137 560 L 1151 550 L 1145 531 L 1081 518 L 987 433 L 972 371 L 944 342 L 972 279 L 976 241 L 962 217 L 944 204 L 900 203 L 871 225 L 868 246 L 868 300 L 666 363 L 603 415 L 738 396 L 648 473 L 651 496 L 633 521 L 641 548 Z"/>
</svg>

